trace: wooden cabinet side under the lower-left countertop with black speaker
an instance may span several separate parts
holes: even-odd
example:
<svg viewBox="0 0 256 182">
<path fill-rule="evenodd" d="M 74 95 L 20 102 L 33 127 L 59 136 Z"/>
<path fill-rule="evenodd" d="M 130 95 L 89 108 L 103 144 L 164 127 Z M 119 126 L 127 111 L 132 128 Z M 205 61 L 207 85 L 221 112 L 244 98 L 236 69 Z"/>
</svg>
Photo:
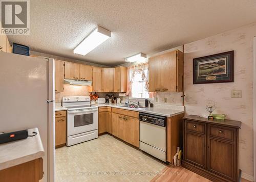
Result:
<svg viewBox="0 0 256 182">
<path fill-rule="evenodd" d="M 1 182 L 35 182 L 44 175 L 42 171 L 42 158 L 0 170 Z"/>
</svg>

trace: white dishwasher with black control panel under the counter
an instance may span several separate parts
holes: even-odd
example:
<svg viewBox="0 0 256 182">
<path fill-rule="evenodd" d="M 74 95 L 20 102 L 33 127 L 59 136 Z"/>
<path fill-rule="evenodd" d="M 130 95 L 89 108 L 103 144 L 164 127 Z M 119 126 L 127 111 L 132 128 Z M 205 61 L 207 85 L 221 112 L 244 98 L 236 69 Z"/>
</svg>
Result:
<svg viewBox="0 0 256 182">
<path fill-rule="evenodd" d="M 166 117 L 139 113 L 140 149 L 166 162 Z"/>
</svg>

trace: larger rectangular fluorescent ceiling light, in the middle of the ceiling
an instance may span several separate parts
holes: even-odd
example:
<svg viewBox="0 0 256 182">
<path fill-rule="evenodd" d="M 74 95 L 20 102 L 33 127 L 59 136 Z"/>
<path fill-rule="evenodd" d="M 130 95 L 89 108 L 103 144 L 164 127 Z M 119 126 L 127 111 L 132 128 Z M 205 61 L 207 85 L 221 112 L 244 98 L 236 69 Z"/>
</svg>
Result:
<svg viewBox="0 0 256 182">
<path fill-rule="evenodd" d="M 102 27 L 96 27 L 76 48 L 74 48 L 74 54 L 87 55 L 95 47 L 103 43 L 106 39 L 110 38 L 111 32 L 103 29 Z"/>
</svg>

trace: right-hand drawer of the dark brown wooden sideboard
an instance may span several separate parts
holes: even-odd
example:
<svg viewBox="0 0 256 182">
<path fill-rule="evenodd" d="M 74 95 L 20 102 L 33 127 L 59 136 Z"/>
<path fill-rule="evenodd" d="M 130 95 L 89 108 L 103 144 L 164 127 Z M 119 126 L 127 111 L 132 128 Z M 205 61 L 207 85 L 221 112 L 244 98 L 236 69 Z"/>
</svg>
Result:
<svg viewBox="0 0 256 182">
<path fill-rule="evenodd" d="M 209 136 L 233 141 L 234 131 L 231 128 L 209 124 L 208 132 L 209 132 Z"/>
</svg>

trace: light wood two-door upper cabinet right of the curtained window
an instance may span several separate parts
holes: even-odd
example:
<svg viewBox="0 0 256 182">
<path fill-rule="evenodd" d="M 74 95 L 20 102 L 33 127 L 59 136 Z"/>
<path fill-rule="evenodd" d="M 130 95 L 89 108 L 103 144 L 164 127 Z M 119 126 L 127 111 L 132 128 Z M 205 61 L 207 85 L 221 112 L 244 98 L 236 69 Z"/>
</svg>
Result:
<svg viewBox="0 0 256 182">
<path fill-rule="evenodd" d="M 174 50 L 148 59 L 150 92 L 182 92 L 184 54 Z"/>
</svg>

